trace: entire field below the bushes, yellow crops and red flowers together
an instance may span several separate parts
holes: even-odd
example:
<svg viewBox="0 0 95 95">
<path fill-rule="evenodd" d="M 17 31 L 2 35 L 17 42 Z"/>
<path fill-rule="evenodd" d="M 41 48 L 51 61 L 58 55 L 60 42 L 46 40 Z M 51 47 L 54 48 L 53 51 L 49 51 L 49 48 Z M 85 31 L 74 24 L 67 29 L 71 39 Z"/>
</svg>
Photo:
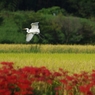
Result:
<svg viewBox="0 0 95 95">
<path fill-rule="evenodd" d="M 0 45 L 0 95 L 95 95 L 95 46 Z"/>
</svg>

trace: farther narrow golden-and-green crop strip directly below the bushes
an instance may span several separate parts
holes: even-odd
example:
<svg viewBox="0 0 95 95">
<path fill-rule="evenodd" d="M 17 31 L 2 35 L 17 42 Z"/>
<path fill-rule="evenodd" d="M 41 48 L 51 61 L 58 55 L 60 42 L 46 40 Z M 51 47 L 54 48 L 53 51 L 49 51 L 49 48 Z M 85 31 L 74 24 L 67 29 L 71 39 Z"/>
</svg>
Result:
<svg viewBox="0 0 95 95">
<path fill-rule="evenodd" d="M 0 44 L 0 53 L 87 53 L 94 54 L 94 45 Z"/>
</svg>

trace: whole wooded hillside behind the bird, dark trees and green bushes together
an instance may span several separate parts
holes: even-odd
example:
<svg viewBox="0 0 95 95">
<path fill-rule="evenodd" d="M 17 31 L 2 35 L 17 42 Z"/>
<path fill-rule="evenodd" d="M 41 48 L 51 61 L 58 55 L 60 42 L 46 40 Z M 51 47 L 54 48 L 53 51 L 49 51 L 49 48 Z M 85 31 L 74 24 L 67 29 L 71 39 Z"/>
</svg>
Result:
<svg viewBox="0 0 95 95">
<path fill-rule="evenodd" d="M 30 43 L 95 43 L 95 0 L 0 0 L 0 43 L 26 43 L 35 21 L 41 37 Z"/>
</svg>

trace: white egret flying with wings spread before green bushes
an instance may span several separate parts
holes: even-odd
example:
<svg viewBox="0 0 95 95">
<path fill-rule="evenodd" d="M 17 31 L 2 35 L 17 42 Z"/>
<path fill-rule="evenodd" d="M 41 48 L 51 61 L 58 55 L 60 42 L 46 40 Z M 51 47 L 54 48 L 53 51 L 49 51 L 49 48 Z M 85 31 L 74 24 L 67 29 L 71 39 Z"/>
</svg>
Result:
<svg viewBox="0 0 95 95">
<path fill-rule="evenodd" d="M 29 42 L 33 38 L 33 36 L 35 34 L 39 34 L 40 33 L 40 29 L 39 29 L 38 23 L 39 22 L 31 23 L 31 29 L 24 28 L 24 30 L 26 30 L 26 32 L 27 32 L 27 34 L 26 34 L 26 42 Z"/>
</svg>

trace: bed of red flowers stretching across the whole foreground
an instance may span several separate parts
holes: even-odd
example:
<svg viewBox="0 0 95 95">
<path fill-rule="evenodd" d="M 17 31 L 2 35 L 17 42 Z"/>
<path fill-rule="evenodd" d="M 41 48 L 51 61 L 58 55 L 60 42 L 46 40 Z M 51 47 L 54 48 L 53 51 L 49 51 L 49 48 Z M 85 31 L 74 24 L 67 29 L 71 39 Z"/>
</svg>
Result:
<svg viewBox="0 0 95 95">
<path fill-rule="evenodd" d="M 61 68 L 16 69 L 13 62 L 1 62 L 0 95 L 95 95 L 95 70 L 70 74 Z"/>
</svg>

